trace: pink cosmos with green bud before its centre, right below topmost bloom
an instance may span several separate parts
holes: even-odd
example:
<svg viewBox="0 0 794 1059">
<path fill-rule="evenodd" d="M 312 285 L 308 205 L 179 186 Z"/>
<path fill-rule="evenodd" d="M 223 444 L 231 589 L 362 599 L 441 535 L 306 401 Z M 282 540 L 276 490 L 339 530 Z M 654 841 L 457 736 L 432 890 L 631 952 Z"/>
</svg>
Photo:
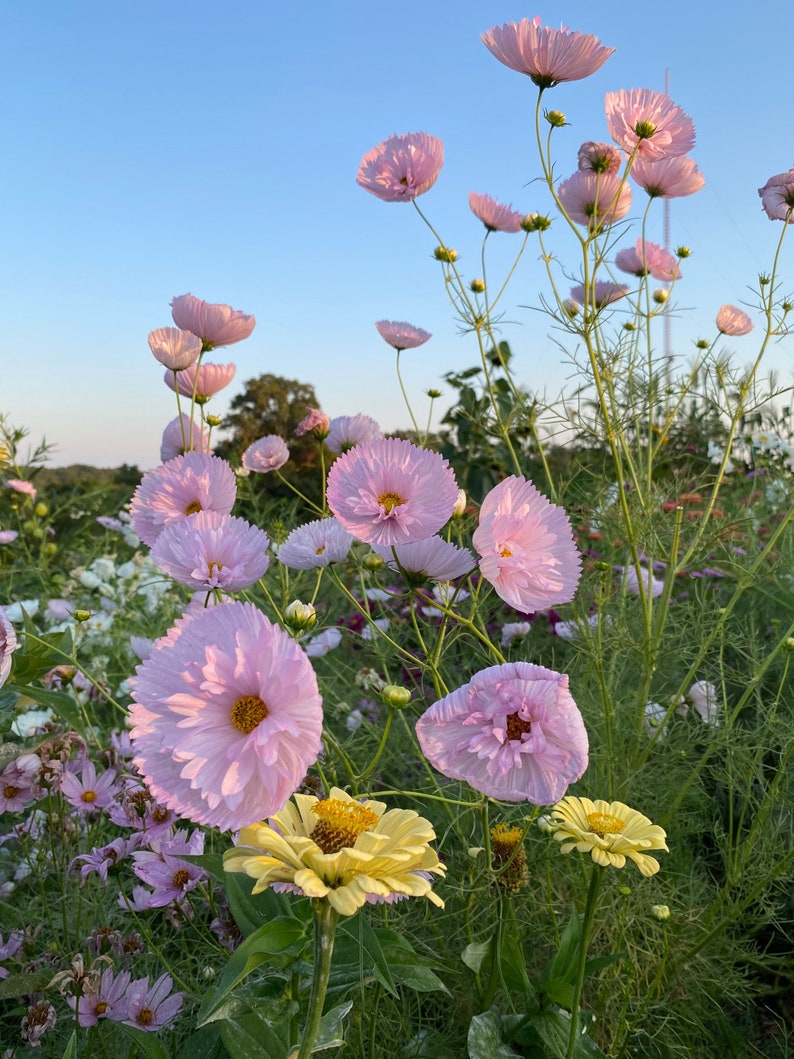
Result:
<svg viewBox="0 0 794 1059">
<path fill-rule="evenodd" d="M 669 95 L 648 88 L 607 92 L 610 136 L 627 155 L 650 161 L 686 155 L 694 146 L 691 118 Z"/>
</svg>

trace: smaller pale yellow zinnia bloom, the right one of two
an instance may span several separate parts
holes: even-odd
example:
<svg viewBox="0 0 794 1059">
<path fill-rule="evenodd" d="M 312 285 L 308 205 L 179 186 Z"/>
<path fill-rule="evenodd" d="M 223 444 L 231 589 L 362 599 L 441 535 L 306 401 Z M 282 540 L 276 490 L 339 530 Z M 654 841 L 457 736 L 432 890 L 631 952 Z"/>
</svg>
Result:
<svg viewBox="0 0 794 1059">
<path fill-rule="evenodd" d="M 624 867 L 628 857 L 645 876 L 658 872 L 658 861 L 645 850 L 667 850 L 665 831 L 622 802 L 564 797 L 549 812 L 548 829 L 563 854 L 589 852 L 602 867 Z"/>
</svg>

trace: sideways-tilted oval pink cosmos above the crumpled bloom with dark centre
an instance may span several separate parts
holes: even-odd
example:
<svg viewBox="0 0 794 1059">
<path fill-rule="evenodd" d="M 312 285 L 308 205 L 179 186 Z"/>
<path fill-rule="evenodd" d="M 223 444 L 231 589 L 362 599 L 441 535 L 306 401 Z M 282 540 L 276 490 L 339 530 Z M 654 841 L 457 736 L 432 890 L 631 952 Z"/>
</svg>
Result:
<svg viewBox="0 0 794 1059">
<path fill-rule="evenodd" d="M 487 495 L 472 543 L 497 594 L 530 614 L 574 598 L 581 557 L 565 511 L 515 474 Z"/>
</svg>

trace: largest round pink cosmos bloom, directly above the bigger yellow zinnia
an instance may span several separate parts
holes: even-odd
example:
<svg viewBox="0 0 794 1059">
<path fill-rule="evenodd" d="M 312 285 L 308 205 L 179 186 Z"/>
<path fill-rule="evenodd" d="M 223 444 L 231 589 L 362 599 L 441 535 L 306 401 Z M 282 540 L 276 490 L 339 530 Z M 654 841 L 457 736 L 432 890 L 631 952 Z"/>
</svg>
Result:
<svg viewBox="0 0 794 1059">
<path fill-rule="evenodd" d="M 134 764 L 180 815 L 237 830 L 279 811 L 321 751 L 311 663 L 251 604 L 175 626 L 130 679 Z"/>
</svg>

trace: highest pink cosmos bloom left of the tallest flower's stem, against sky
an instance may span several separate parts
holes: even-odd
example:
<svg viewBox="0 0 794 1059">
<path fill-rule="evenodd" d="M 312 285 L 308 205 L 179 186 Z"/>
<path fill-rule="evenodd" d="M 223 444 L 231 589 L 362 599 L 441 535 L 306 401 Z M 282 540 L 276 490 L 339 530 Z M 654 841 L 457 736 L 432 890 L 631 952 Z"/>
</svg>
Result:
<svg viewBox="0 0 794 1059">
<path fill-rule="evenodd" d="M 444 165 L 444 144 L 427 132 L 391 136 L 361 159 L 356 183 L 384 202 L 410 202 L 430 191 Z"/>
</svg>

